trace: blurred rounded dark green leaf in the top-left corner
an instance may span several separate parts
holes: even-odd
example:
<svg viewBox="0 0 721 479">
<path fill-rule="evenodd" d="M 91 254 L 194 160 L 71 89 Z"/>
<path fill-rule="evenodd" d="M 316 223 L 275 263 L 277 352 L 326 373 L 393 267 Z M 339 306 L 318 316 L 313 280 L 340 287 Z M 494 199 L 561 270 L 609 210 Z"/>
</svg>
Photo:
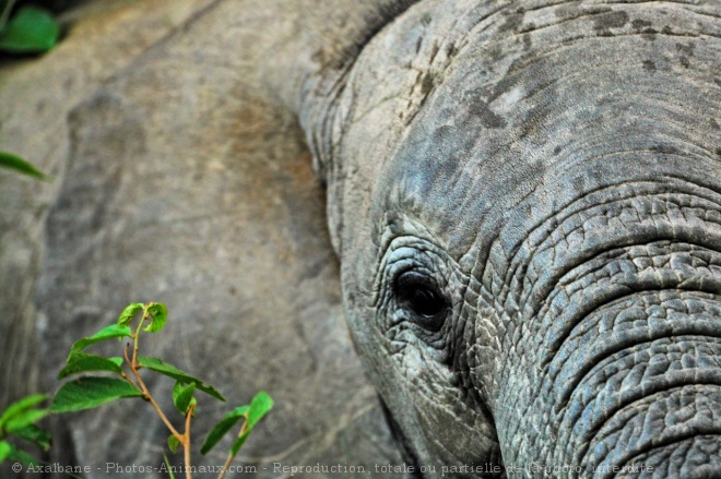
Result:
<svg viewBox="0 0 721 479">
<path fill-rule="evenodd" d="M 60 25 L 48 11 L 26 5 L 0 32 L 0 50 L 39 53 L 52 48 L 59 37 Z"/>
</svg>

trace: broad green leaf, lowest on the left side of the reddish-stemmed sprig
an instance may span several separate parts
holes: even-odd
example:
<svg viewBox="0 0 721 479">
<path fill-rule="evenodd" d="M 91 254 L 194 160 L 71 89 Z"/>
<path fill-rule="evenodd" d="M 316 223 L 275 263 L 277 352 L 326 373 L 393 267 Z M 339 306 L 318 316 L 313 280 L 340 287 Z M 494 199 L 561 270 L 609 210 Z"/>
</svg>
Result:
<svg viewBox="0 0 721 479">
<path fill-rule="evenodd" d="M 142 396 L 132 384 L 114 378 L 80 378 L 67 382 L 55 395 L 50 410 L 69 412 L 92 409 L 122 397 Z"/>
</svg>

